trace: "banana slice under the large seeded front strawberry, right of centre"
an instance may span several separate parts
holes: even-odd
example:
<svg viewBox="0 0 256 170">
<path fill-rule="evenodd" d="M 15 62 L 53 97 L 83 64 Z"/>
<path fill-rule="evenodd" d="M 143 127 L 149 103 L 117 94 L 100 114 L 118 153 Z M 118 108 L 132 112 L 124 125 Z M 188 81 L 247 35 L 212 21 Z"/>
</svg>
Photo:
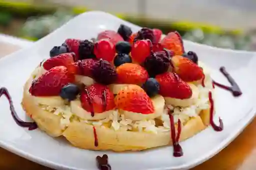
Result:
<svg viewBox="0 0 256 170">
<path fill-rule="evenodd" d="M 152 97 L 151 100 L 154 106 L 154 113 L 152 114 L 141 114 L 141 113 L 129 112 L 125 110 L 119 110 L 119 111 L 121 114 L 124 115 L 125 118 L 131 119 L 132 121 L 154 119 L 162 115 L 164 112 L 164 98 L 161 95 L 156 95 Z"/>
</svg>

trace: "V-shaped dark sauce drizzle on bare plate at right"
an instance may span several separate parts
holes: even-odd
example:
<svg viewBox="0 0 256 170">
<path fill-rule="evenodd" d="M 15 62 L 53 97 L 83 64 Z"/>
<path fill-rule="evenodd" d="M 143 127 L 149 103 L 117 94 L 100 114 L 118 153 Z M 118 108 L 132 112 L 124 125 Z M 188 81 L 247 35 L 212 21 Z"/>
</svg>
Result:
<svg viewBox="0 0 256 170">
<path fill-rule="evenodd" d="M 237 85 L 237 83 L 234 81 L 234 79 L 230 76 L 230 74 L 228 74 L 228 72 L 226 71 L 225 67 L 220 67 L 219 71 L 226 77 L 226 79 L 228 80 L 228 82 L 231 84 L 231 87 L 222 85 L 218 82 L 213 81 L 213 84 L 215 84 L 216 86 L 228 90 L 230 92 L 232 92 L 234 97 L 240 96 L 242 94 L 239 86 Z"/>
</svg>

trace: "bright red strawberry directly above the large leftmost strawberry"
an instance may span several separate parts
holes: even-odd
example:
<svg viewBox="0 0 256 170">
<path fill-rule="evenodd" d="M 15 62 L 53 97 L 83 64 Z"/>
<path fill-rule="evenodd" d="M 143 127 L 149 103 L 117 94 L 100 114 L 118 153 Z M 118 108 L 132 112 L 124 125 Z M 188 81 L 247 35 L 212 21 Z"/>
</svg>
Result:
<svg viewBox="0 0 256 170">
<path fill-rule="evenodd" d="M 42 66 L 45 70 L 49 70 L 56 66 L 65 66 L 69 73 L 75 73 L 75 66 L 73 65 L 73 55 L 73 53 L 59 54 L 44 61 Z"/>
</svg>

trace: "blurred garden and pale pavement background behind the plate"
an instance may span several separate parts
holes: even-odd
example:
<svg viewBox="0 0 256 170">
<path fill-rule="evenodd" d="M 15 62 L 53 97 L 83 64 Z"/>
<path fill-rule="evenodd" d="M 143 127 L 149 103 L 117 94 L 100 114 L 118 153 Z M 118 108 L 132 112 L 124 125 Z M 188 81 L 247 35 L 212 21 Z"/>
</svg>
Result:
<svg viewBox="0 0 256 170">
<path fill-rule="evenodd" d="M 218 0 L 0 0 L 0 33 L 38 40 L 79 13 L 104 10 L 140 26 L 159 28 L 163 33 L 177 30 L 184 39 L 194 42 L 256 50 L 256 31 L 253 24 L 248 24 L 249 19 L 254 19 L 252 5 L 256 7 L 256 2 L 247 8 L 237 4 L 238 10 L 230 4 L 225 7 L 224 1 L 234 3 L 222 0 L 220 6 Z"/>
</svg>

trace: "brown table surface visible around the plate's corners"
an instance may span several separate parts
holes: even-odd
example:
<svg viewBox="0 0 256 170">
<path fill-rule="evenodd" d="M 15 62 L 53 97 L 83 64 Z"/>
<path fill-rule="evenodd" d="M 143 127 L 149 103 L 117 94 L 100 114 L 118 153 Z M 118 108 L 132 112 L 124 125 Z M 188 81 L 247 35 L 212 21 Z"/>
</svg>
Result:
<svg viewBox="0 0 256 170">
<path fill-rule="evenodd" d="M 0 42 L 0 57 L 18 46 Z M 216 156 L 191 170 L 253 170 L 256 165 L 256 119 Z M 0 148 L 0 170 L 52 170 Z"/>
</svg>

